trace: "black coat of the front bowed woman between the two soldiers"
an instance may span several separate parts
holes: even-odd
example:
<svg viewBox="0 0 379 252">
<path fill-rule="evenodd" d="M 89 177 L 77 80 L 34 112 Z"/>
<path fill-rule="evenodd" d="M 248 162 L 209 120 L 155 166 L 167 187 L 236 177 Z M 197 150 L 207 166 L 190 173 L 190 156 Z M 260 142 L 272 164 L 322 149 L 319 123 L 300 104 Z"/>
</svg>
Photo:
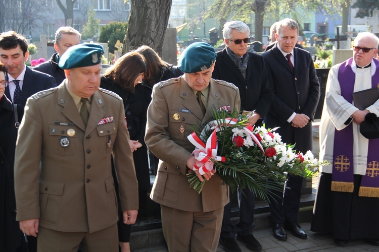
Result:
<svg viewBox="0 0 379 252">
<path fill-rule="evenodd" d="M 130 140 L 138 140 L 138 142 L 143 145 L 133 152 L 135 173 L 138 180 L 138 190 L 150 190 L 148 152 L 144 140 L 147 122 L 146 114 L 149 105 L 149 101 L 146 99 L 146 87 L 142 84 L 138 84 L 135 86 L 134 93 L 130 93 L 104 76 L 101 79 L 100 87 L 118 94 L 124 101 L 125 117 Z M 129 147 L 127 146 L 127 148 Z"/>
</svg>

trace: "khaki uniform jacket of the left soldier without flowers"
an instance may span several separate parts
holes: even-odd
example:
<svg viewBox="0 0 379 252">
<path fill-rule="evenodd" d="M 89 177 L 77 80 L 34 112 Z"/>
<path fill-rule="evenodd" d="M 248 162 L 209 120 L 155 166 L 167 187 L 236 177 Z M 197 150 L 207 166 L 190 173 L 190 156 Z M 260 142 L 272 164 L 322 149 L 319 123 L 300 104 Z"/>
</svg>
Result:
<svg viewBox="0 0 379 252">
<path fill-rule="evenodd" d="M 27 101 L 16 147 L 17 220 L 39 218 L 41 226 L 58 231 L 96 232 L 118 219 L 111 154 L 122 210 L 138 209 L 124 106 L 118 95 L 100 89 L 85 127 L 66 82 Z"/>
</svg>

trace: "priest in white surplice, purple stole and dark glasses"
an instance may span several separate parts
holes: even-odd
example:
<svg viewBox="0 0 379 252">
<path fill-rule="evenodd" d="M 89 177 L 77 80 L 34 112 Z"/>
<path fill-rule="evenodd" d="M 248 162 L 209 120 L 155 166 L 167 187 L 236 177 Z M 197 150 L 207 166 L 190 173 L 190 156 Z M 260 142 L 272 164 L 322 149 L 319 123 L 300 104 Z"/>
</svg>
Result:
<svg viewBox="0 0 379 252">
<path fill-rule="evenodd" d="M 326 83 L 319 157 L 333 165 L 320 168 L 311 230 L 333 233 L 338 245 L 367 239 L 379 246 L 379 139 L 360 133 L 368 113 L 379 115 L 379 100 L 364 109 L 352 100 L 352 93 L 379 83 L 379 61 L 374 59 L 378 44 L 374 34 L 359 33 L 353 57 L 331 68 Z"/>
</svg>

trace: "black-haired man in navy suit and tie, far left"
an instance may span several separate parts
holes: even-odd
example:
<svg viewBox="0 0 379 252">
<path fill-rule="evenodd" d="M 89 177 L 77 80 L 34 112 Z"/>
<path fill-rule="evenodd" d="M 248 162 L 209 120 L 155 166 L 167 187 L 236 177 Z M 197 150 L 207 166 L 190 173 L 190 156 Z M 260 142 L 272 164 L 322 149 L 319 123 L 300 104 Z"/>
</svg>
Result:
<svg viewBox="0 0 379 252">
<path fill-rule="evenodd" d="M 25 65 L 28 57 L 28 43 L 25 37 L 14 31 L 0 35 L 0 61 L 8 68 L 9 78 L 5 94 L 13 103 L 22 106 L 25 106 L 31 95 L 57 86 L 50 75 L 28 68 Z"/>
</svg>

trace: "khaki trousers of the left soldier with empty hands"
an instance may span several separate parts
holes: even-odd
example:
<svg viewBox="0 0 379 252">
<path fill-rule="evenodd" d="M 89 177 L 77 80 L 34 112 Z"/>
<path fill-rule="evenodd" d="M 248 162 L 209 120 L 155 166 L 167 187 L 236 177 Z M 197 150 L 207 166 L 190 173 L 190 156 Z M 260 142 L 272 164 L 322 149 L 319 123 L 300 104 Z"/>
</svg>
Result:
<svg viewBox="0 0 379 252">
<path fill-rule="evenodd" d="M 118 252 L 117 223 L 97 232 L 61 232 L 38 227 L 38 252 Z"/>
</svg>

